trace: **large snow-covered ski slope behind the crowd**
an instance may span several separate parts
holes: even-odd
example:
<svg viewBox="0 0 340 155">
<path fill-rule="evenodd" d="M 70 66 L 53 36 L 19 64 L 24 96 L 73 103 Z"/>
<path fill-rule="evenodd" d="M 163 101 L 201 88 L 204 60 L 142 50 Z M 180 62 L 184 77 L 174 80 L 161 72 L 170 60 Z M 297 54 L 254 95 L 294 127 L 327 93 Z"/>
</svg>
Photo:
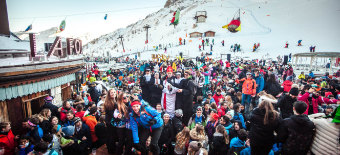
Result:
<svg viewBox="0 0 340 155">
<path fill-rule="evenodd" d="M 179 52 L 183 52 L 185 57 L 195 58 L 202 53 L 198 48 L 201 40 L 189 38 L 188 34 L 207 31 L 216 32 L 215 37 L 209 37 L 209 43 L 213 39 L 215 41 L 212 58 L 220 58 L 220 54 L 232 54 L 232 57 L 246 59 L 276 58 L 279 55 L 309 52 L 311 45 L 316 46 L 316 51 L 338 51 L 340 42 L 338 6 L 340 1 L 335 0 L 168 1 L 166 7 L 146 16 L 145 19 L 83 44 L 83 51 L 88 56 L 106 56 L 107 51 L 110 51 L 111 57 L 122 54 L 134 57 L 137 51 L 155 49 L 161 44 L 162 47 L 167 46 L 166 55 L 175 57 Z M 174 25 L 169 23 L 173 11 L 178 8 L 180 21 L 174 28 Z M 223 25 L 237 16 L 235 14 L 239 8 L 241 32 L 230 33 L 222 29 Z M 193 19 L 197 11 L 206 11 L 206 22 L 197 23 L 196 19 Z M 146 24 L 151 26 L 147 31 L 147 44 L 145 44 L 146 30 L 143 28 Z M 123 37 L 125 53 L 122 52 L 119 35 Z M 185 45 L 178 45 L 180 37 L 186 40 Z M 304 46 L 296 46 L 300 39 Z M 225 46 L 222 46 L 222 40 L 225 41 Z M 289 48 L 284 48 L 286 41 Z M 230 53 L 230 46 L 235 43 L 241 44 L 242 53 Z M 252 52 L 254 43 L 260 43 L 256 53 Z M 203 52 L 209 50 L 210 47 L 205 47 Z M 142 53 L 141 59 L 148 60 L 151 54 L 163 54 L 163 51 L 146 51 Z"/>
</svg>

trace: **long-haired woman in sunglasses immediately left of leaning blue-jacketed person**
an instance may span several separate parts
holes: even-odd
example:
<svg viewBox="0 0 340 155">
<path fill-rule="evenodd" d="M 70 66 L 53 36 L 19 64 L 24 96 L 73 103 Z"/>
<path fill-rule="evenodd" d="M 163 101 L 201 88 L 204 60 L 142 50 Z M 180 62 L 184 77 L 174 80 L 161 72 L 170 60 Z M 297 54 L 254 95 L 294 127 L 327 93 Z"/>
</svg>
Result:
<svg viewBox="0 0 340 155">
<path fill-rule="evenodd" d="M 131 110 L 129 108 L 130 106 L 130 97 L 128 96 L 128 93 L 121 92 L 118 95 L 118 102 L 116 106 L 116 110 L 113 114 L 115 117 L 115 121 L 112 122 L 117 127 L 117 133 L 119 137 L 118 145 L 117 145 L 117 154 L 123 154 L 123 149 L 125 145 L 125 152 L 128 153 L 128 151 L 131 151 L 132 149 L 132 143 L 126 144 L 126 125 L 125 122 L 129 120 Z"/>
</svg>

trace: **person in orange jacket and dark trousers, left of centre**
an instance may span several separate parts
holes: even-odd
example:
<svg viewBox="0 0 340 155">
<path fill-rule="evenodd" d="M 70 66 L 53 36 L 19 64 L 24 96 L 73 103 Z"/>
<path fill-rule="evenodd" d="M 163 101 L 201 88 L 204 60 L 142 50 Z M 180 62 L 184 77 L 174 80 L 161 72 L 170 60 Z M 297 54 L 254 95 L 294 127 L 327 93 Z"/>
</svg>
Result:
<svg viewBox="0 0 340 155">
<path fill-rule="evenodd" d="M 92 137 L 92 148 L 98 148 L 97 147 L 97 140 L 98 137 L 96 136 L 94 127 L 97 125 L 97 120 L 96 120 L 96 114 L 97 114 L 97 107 L 92 107 L 90 109 L 89 114 L 87 114 L 86 116 L 84 116 L 82 118 L 82 120 L 85 122 L 86 125 L 89 126 L 90 128 L 90 133 L 91 133 L 91 137 Z"/>
</svg>

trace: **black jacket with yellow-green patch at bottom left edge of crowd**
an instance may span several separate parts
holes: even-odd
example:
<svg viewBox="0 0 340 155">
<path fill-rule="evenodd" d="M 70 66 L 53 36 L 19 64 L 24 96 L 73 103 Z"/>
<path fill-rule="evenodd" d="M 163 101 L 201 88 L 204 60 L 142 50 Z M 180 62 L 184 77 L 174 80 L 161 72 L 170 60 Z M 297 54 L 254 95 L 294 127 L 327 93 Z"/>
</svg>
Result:
<svg viewBox="0 0 340 155">
<path fill-rule="evenodd" d="M 73 137 L 61 137 L 59 138 L 59 144 L 63 154 L 87 154 L 87 148 L 83 145 L 83 143 Z"/>
</svg>

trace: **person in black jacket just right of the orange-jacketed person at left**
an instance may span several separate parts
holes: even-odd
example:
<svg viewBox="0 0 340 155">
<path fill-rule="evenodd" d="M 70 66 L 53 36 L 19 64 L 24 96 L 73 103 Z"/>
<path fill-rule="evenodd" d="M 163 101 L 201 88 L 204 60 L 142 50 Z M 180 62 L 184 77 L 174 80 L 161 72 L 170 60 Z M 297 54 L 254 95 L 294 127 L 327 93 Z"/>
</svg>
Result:
<svg viewBox="0 0 340 155">
<path fill-rule="evenodd" d="M 98 147 L 104 145 L 108 138 L 108 128 L 105 124 L 105 115 L 100 116 L 98 123 L 94 126 L 94 131 L 98 137 Z"/>
</svg>

